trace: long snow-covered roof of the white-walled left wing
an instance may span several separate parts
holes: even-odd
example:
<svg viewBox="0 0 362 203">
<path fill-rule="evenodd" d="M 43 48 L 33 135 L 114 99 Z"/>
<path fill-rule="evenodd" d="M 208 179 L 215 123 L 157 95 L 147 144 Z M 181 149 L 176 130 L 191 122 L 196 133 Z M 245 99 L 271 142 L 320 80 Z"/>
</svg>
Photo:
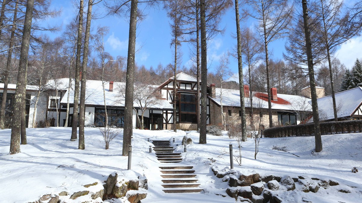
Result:
<svg viewBox="0 0 362 203">
<path fill-rule="evenodd" d="M 105 87 L 105 98 L 107 106 L 115 106 L 115 107 L 124 107 L 125 106 L 125 98 L 122 96 L 121 88 L 125 88 L 126 83 L 124 82 L 114 82 L 113 83 L 113 91 L 109 91 L 109 82 L 104 82 Z M 156 86 L 157 87 L 157 86 Z M 64 94 L 64 97 L 60 101 L 60 103 L 67 103 L 68 91 Z M 100 105 L 104 106 L 104 94 L 102 81 L 95 80 L 87 80 L 86 83 L 86 91 L 85 91 L 85 104 L 86 105 Z M 74 101 L 74 85 L 72 84 L 72 88 L 69 95 L 69 102 L 73 104 Z M 134 102 L 134 107 L 139 107 L 140 105 Z M 150 106 L 152 109 L 173 109 L 173 106 L 165 99 L 159 99 L 157 104 Z"/>
</svg>

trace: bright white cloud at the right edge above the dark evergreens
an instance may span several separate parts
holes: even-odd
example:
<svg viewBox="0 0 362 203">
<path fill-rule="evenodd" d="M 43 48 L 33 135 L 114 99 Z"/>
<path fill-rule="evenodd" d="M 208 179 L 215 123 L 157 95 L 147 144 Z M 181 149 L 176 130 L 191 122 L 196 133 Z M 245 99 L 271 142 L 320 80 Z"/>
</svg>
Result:
<svg viewBox="0 0 362 203">
<path fill-rule="evenodd" d="M 334 55 L 347 68 L 351 68 L 357 58 L 362 56 L 362 36 L 353 38 L 343 43 Z"/>
</svg>

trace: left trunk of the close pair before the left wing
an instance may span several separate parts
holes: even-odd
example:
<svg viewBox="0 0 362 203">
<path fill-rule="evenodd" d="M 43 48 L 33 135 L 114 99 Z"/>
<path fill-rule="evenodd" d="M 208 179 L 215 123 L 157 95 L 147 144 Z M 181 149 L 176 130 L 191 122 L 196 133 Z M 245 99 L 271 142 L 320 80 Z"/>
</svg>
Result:
<svg viewBox="0 0 362 203">
<path fill-rule="evenodd" d="M 83 0 L 79 4 L 79 22 L 78 22 L 78 36 L 77 36 L 77 56 L 75 61 L 75 83 L 74 83 L 74 102 L 73 102 L 73 116 L 72 116 L 72 136 L 71 141 L 77 140 L 77 126 L 78 126 L 78 103 L 79 103 L 79 72 L 80 72 L 80 56 L 82 48 L 82 33 L 83 33 Z"/>
</svg>

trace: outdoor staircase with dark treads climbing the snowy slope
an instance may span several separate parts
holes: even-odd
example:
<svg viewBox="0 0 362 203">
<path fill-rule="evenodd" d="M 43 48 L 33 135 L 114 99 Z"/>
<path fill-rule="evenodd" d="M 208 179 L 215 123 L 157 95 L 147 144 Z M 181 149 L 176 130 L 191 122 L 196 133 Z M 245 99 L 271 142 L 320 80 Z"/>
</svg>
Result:
<svg viewBox="0 0 362 203">
<path fill-rule="evenodd" d="M 180 163 L 182 161 L 181 153 L 174 153 L 173 147 L 170 147 L 170 141 L 154 140 L 152 141 L 156 152 L 156 157 L 161 163 Z M 165 188 L 165 193 L 198 193 L 202 191 L 195 183 L 198 180 L 195 178 L 195 170 L 192 166 L 178 165 L 165 165 L 160 167 L 162 186 Z"/>
</svg>

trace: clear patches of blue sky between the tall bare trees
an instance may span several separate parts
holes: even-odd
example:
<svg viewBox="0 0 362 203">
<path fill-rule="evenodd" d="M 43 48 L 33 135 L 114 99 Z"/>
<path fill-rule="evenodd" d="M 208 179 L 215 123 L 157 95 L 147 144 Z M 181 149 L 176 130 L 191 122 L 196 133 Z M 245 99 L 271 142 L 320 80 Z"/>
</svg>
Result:
<svg viewBox="0 0 362 203">
<path fill-rule="evenodd" d="M 348 1 L 351 4 L 354 1 Z M 61 9 L 61 14 L 52 19 L 48 19 L 47 23 L 62 25 L 63 27 L 69 23 L 76 15 L 76 10 L 70 1 L 53 0 L 51 3 L 52 8 Z M 142 8 L 142 5 L 139 6 Z M 161 7 L 161 6 L 160 6 Z M 94 12 L 99 16 L 105 16 L 106 11 L 100 7 L 95 7 Z M 171 33 L 169 26 L 169 19 L 163 9 L 146 9 L 144 12 L 147 14 L 146 18 L 138 23 L 136 47 L 139 51 L 136 55 L 136 63 L 138 65 L 145 65 L 146 68 L 153 66 L 157 67 L 159 63 L 167 65 L 172 62 L 173 53 L 170 47 Z M 105 38 L 105 51 L 111 55 L 127 56 L 128 46 L 128 33 L 129 33 L 129 19 L 127 16 L 116 17 L 109 16 L 92 21 L 93 31 L 96 31 L 97 26 L 108 26 L 109 34 Z M 245 26 L 253 27 L 253 20 L 248 20 Z M 219 57 L 228 51 L 232 51 L 236 44 L 236 39 L 232 37 L 236 33 L 235 28 L 235 11 L 229 9 L 223 17 L 220 27 L 225 27 L 225 33 L 215 36 L 214 39 L 208 41 L 207 56 L 209 60 L 209 71 L 218 65 Z M 51 33 L 51 37 L 60 36 L 62 32 Z M 269 50 L 271 58 L 282 59 L 284 51 L 284 44 L 286 39 L 277 40 L 270 44 Z M 355 59 L 361 58 L 362 52 L 362 37 L 355 37 L 349 42 L 342 44 L 341 48 L 336 52 L 335 56 L 338 57 L 348 68 L 350 68 Z M 189 67 L 189 45 L 182 44 L 182 65 Z M 237 61 L 230 58 L 230 68 L 233 72 L 237 73 Z M 245 68 L 245 67 L 244 67 Z"/>
</svg>

